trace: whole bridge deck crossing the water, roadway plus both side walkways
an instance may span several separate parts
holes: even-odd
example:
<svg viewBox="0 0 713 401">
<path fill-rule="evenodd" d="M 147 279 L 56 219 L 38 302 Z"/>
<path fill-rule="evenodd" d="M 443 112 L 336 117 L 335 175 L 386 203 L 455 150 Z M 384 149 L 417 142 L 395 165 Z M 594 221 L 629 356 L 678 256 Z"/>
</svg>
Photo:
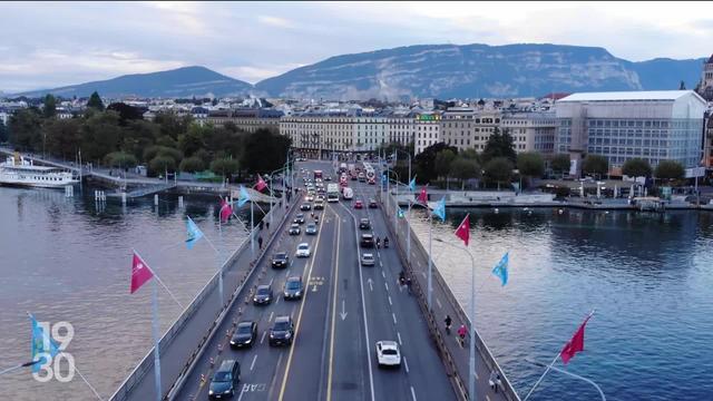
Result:
<svg viewBox="0 0 713 401">
<path fill-rule="evenodd" d="M 326 163 L 319 162 L 303 166 L 329 169 Z M 377 186 L 355 183 L 353 188 L 355 199 L 379 198 Z M 223 299 L 216 274 L 166 332 L 159 343 L 162 399 L 208 399 L 211 378 L 222 361 L 231 359 L 237 360 L 242 370 L 237 400 L 519 400 L 479 336 L 477 393 L 469 397 L 468 346 L 463 348 L 455 334 L 445 333 L 442 324 L 443 316 L 450 314 L 455 327 L 469 325 L 467 315 L 437 270 L 434 306 L 428 309 L 422 290 L 428 254 L 411 233 L 411 264 L 404 263 L 404 229 L 410 227 L 403 222 L 394 235 L 389 219 L 393 211 L 384 207 L 385 202 L 374 209 L 354 209 L 344 202 L 325 204 L 324 211 L 318 212 L 316 235 L 302 232 L 290 236 L 286 227 L 300 213 L 300 200 L 295 196 L 291 204 L 280 203 L 271 211 L 281 223 L 261 234 L 267 236 L 264 250 L 251 253 L 244 244 L 226 262 Z M 392 238 L 389 248 L 370 250 L 374 266 L 360 262 L 359 237 L 368 231 L 359 229 L 359 219 L 364 217 L 371 221 L 375 235 Z M 312 254 L 296 258 L 295 247 L 303 242 L 310 244 Z M 286 268 L 271 267 L 276 252 L 290 255 Z M 398 283 L 402 270 L 414 278 L 411 293 Z M 305 284 L 300 301 L 285 301 L 281 295 L 290 276 L 300 276 Z M 258 284 L 272 286 L 275 297 L 270 305 L 253 305 Z M 295 323 L 294 342 L 270 346 L 267 332 L 283 315 L 292 316 Z M 241 321 L 256 322 L 257 338 L 252 348 L 233 350 L 229 340 Z M 382 340 L 399 343 L 399 369 L 378 368 L 374 344 Z M 497 393 L 488 385 L 491 371 L 502 378 Z M 152 350 L 111 400 L 156 400 L 154 378 Z"/>
</svg>

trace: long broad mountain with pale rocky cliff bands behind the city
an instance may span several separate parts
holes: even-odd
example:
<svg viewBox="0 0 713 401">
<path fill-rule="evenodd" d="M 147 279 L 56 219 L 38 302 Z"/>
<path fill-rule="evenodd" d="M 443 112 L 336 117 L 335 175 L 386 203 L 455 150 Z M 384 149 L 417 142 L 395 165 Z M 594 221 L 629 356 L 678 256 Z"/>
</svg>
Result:
<svg viewBox="0 0 713 401">
<path fill-rule="evenodd" d="M 424 45 L 331 57 L 255 87 L 272 96 L 368 99 L 540 96 L 697 84 L 704 59 L 633 62 L 603 48 Z"/>
</svg>

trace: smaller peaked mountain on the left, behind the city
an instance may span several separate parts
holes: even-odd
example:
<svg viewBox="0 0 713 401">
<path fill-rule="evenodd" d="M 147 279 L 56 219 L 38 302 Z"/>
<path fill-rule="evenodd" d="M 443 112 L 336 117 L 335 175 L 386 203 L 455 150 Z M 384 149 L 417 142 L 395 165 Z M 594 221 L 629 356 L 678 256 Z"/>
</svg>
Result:
<svg viewBox="0 0 713 401">
<path fill-rule="evenodd" d="M 121 77 L 66 86 L 55 89 L 32 90 L 19 96 L 40 97 L 46 94 L 66 98 L 88 97 L 94 91 L 104 97 L 203 97 L 246 95 L 254 90 L 251 84 L 226 77 L 205 67 L 183 67 L 168 71 L 133 74 Z"/>
</svg>

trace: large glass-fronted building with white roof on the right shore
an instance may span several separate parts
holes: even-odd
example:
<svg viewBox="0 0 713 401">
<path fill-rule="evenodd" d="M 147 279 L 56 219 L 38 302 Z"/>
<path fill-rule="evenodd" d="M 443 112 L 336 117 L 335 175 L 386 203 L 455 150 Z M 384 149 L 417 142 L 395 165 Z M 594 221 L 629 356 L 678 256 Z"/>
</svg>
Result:
<svg viewBox="0 0 713 401">
<path fill-rule="evenodd" d="M 556 151 L 579 160 L 603 155 L 612 174 L 631 158 L 701 162 L 706 104 L 693 90 L 574 94 L 556 102 Z"/>
</svg>

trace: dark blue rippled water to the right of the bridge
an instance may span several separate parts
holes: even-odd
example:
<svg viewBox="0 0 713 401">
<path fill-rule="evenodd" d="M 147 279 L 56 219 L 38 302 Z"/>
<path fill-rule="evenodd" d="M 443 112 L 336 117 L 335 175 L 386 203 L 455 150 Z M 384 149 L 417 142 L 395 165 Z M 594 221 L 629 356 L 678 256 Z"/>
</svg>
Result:
<svg viewBox="0 0 713 401">
<path fill-rule="evenodd" d="M 467 212 L 476 326 L 521 397 L 544 371 L 526 359 L 549 363 L 596 310 L 585 352 L 567 371 L 594 380 L 609 400 L 713 400 L 713 213 L 449 208 L 433 235 L 462 245 L 453 229 Z M 416 229 L 428 245 L 426 221 Z M 469 257 L 433 248 L 469 310 Z M 502 287 L 490 270 L 507 251 Z M 598 399 L 589 384 L 553 371 L 530 400 Z"/>
</svg>

